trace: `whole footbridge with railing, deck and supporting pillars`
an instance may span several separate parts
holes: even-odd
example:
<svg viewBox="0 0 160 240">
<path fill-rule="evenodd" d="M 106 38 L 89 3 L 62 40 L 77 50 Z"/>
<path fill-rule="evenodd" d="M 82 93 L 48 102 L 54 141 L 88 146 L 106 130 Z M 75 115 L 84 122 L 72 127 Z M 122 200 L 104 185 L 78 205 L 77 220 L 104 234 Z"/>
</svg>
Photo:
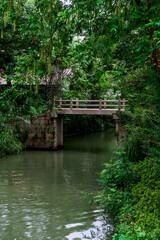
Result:
<svg viewBox="0 0 160 240">
<path fill-rule="evenodd" d="M 124 111 L 127 100 L 76 100 L 56 99 L 53 100 L 52 111 L 57 116 L 54 121 L 54 149 L 63 147 L 63 115 L 113 115 L 117 119 L 116 113 Z M 116 131 L 119 125 L 116 123 Z"/>
</svg>

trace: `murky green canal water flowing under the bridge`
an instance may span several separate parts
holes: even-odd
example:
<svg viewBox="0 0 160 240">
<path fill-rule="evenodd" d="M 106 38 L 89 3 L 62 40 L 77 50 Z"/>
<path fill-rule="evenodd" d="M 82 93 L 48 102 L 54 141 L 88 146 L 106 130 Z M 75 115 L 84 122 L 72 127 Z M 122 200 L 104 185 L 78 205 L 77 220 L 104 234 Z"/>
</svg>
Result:
<svg viewBox="0 0 160 240">
<path fill-rule="evenodd" d="M 114 145 L 108 130 L 0 159 L 0 240 L 110 240 L 112 220 L 81 192 L 96 192 Z"/>
</svg>

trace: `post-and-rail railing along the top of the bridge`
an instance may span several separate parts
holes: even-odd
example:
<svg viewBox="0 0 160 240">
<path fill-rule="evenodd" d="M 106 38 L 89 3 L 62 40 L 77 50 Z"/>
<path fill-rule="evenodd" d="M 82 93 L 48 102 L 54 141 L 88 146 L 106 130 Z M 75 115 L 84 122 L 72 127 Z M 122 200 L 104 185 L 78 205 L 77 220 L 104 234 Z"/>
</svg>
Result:
<svg viewBox="0 0 160 240">
<path fill-rule="evenodd" d="M 125 110 L 127 100 L 79 100 L 74 99 L 54 99 L 53 108 L 54 109 L 98 109 L 98 110 L 110 110 L 115 109 L 119 111 Z"/>
</svg>

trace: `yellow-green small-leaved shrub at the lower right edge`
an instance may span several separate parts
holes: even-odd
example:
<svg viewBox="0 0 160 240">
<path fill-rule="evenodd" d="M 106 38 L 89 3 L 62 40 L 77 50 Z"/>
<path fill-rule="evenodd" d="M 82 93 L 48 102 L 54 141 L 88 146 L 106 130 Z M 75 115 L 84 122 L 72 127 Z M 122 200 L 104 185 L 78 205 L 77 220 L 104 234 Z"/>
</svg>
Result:
<svg viewBox="0 0 160 240">
<path fill-rule="evenodd" d="M 147 158 L 134 166 L 139 182 L 132 188 L 136 204 L 136 221 L 152 237 L 159 231 L 160 236 L 160 161 Z M 148 231 L 147 231 L 148 232 Z M 153 238 L 154 239 L 154 238 Z"/>
</svg>

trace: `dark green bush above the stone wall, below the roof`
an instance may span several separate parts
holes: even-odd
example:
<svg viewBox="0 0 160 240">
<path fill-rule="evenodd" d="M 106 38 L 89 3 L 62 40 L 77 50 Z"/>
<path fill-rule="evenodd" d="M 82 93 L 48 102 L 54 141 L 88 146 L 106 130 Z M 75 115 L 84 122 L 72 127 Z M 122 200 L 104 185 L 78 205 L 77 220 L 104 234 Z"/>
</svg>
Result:
<svg viewBox="0 0 160 240">
<path fill-rule="evenodd" d="M 0 93 L 0 99 L 0 110 L 12 117 L 41 114 L 49 108 L 45 94 L 34 94 L 26 85 L 12 85 Z"/>
</svg>

